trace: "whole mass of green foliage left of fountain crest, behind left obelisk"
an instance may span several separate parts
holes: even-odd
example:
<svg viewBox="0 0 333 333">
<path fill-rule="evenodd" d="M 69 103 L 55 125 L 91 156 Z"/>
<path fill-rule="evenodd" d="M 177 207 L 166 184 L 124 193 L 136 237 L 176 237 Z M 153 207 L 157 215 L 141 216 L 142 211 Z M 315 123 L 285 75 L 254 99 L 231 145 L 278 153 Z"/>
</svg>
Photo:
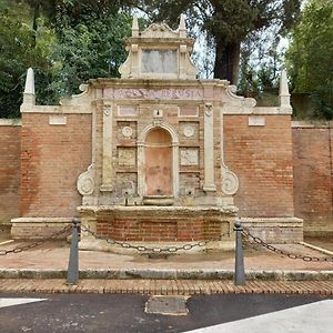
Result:
<svg viewBox="0 0 333 333">
<path fill-rule="evenodd" d="M 0 118 L 18 117 L 27 69 L 37 102 L 57 103 L 90 78 L 119 77 L 131 18 L 112 0 L 0 0 Z"/>
</svg>

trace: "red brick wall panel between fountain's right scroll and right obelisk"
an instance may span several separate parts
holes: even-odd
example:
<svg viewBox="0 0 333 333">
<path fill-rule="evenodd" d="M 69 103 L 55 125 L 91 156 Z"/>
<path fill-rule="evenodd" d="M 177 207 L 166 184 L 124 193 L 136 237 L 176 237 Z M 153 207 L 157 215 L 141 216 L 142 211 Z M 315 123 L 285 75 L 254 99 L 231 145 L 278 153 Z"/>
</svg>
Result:
<svg viewBox="0 0 333 333">
<path fill-rule="evenodd" d="M 225 162 L 240 181 L 235 204 L 240 216 L 293 216 L 290 117 L 264 119 L 249 127 L 249 115 L 224 117 Z"/>
</svg>

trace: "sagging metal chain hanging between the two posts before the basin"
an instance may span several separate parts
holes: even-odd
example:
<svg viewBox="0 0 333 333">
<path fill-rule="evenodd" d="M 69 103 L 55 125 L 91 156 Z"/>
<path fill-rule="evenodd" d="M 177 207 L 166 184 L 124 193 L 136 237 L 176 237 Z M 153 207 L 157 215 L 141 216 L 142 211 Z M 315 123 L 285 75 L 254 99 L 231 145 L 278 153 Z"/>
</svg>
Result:
<svg viewBox="0 0 333 333">
<path fill-rule="evenodd" d="M 89 230 L 88 228 L 81 225 L 81 232 L 88 232 L 89 234 L 93 235 L 95 239 L 98 239 L 98 235 L 95 232 Z M 230 235 L 229 233 L 224 233 L 222 234 L 220 238 L 223 238 L 225 235 Z M 160 246 L 145 246 L 145 245 L 134 245 L 128 242 L 122 242 L 122 241 L 115 241 L 115 240 L 110 240 L 107 239 L 104 240 L 107 243 L 111 244 L 111 245 L 118 245 L 121 246 L 123 249 L 132 249 L 132 250 L 137 250 L 139 252 L 149 252 L 149 253 L 175 253 L 178 251 L 184 250 L 184 251 L 189 251 L 192 250 L 193 248 L 203 248 L 208 243 L 213 242 L 213 241 L 218 241 L 218 240 L 205 240 L 205 241 L 199 241 L 196 243 L 186 243 L 183 244 L 181 246 L 168 246 L 168 248 L 160 248 Z"/>
</svg>

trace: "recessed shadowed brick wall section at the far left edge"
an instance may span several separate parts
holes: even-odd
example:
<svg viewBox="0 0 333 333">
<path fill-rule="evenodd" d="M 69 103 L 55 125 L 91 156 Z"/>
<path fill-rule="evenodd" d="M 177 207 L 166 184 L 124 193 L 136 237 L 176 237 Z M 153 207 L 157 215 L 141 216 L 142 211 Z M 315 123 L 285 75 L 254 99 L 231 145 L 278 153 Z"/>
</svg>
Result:
<svg viewBox="0 0 333 333">
<path fill-rule="evenodd" d="M 0 223 L 20 215 L 21 127 L 0 125 Z"/>
</svg>

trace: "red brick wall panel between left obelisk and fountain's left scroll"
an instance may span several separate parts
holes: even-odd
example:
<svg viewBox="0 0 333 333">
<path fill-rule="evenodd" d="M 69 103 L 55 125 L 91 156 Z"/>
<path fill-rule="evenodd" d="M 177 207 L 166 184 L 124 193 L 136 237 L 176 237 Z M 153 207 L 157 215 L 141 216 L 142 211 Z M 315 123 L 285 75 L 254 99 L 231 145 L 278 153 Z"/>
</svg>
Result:
<svg viewBox="0 0 333 333">
<path fill-rule="evenodd" d="M 65 125 L 50 125 L 49 114 L 22 114 L 22 216 L 77 215 L 77 179 L 91 163 L 91 114 L 65 117 Z"/>
</svg>

